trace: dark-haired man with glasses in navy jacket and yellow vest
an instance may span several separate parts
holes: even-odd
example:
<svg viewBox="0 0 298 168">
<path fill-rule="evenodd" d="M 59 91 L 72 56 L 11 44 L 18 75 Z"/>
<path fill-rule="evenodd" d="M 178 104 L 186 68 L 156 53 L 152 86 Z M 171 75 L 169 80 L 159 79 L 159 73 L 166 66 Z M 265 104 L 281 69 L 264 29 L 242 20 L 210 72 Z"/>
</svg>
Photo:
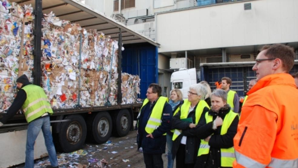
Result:
<svg viewBox="0 0 298 168">
<path fill-rule="evenodd" d="M 151 83 L 137 120 L 138 149 L 143 148 L 146 168 L 163 168 L 162 153 L 166 148 L 166 132 L 173 116 L 168 99 L 161 96 L 161 86 Z"/>
</svg>

